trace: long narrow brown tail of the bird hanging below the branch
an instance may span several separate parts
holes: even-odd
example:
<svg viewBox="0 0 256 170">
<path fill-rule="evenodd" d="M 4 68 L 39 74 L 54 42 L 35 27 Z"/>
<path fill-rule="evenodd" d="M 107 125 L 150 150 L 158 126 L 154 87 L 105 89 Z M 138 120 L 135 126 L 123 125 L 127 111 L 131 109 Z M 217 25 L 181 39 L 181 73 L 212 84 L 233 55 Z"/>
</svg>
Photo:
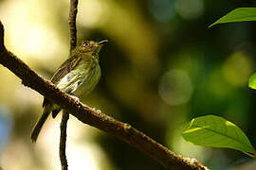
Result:
<svg viewBox="0 0 256 170">
<path fill-rule="evenodd" d="M 35 127 L 32 130 L 32 133 L 31 133 L 32 143 L 36 143 L 38 135 L 39 135 L 42 127 L 46 123 L 46 119 L 47 119 L 48 115 L 50 114 L 50 112 L 51 112 L 51 104 L 46 106 L 46 108 L 43 111 L 43 114 L 41 115 L 41 117 L 39 118 L 39 120 L 37 121 Z"/>
</svg>

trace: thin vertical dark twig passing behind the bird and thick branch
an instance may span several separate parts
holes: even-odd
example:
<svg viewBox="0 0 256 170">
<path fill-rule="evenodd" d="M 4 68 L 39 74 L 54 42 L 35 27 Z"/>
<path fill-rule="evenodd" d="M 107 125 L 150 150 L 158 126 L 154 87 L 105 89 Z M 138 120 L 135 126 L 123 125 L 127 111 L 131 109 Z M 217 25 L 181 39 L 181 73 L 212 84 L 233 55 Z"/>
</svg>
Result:
<svg viewBox="0 0 256 170">
<path fill-rule="evenodd" d="M 77 19 L 77 12 L 78 12 L 78 0 L 70 0 L 70 8 L 69 8 L 69 18 L 68 24 L 70 27 L 70 55 L 71 51 L 77 45 L 77 26 L 76 26 L 76 19 Z M 69 113 L 67 111 L 63 111 L 63 118 L 61 123 L 61 138 L 60 138 L 60 160 L 62 164 L 62 170 L 67 170 L 67 159 L 65 155 L 65 145 L 66 145 L 66 128 L 67 128 L 67 121 L 69 119 Z"/>
</svg>

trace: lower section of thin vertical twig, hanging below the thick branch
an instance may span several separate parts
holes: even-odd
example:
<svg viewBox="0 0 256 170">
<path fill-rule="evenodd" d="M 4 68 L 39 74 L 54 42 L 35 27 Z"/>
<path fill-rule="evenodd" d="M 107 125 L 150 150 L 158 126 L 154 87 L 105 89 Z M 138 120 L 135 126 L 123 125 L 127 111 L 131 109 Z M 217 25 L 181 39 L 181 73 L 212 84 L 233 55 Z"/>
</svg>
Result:
<svg viewBox="0 0 256 170">
<path fill-rule="evenodd" d="M 65 156 L 65 145 L 66 145 L 66 128 L 67 121 L 69 119 L 69 114 L 66 111 L 63 111 L 63 118 L 61 123 L 61 140 L 60 140 L 60 159 L 62 164 L 62 170 L 67 170 L 67 160 Z"/>
</svg>

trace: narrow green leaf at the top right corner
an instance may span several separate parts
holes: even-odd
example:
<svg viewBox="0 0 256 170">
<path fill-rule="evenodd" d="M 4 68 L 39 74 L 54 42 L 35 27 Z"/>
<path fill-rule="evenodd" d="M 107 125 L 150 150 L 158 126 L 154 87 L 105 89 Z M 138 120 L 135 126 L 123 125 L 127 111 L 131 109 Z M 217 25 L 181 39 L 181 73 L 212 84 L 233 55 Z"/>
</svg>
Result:
<svg viewBox="0 0 256 170">
<path fill-rule="evenodd" d="M 227 15 L 218 19 L 209 27 L 224 23 L 247 21 L 256 21 L 256 8 L 235 8 L 231 10 Z"/>
</svg>

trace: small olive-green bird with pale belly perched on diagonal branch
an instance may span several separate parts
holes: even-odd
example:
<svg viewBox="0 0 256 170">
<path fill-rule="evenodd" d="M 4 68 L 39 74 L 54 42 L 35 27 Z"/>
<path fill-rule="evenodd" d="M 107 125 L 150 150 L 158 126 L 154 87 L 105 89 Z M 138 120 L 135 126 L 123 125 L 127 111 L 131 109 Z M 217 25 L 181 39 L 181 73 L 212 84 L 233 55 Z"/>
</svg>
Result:
<svg viewBox="0 0 256 170">
<path fill-rule="evenodd" d="M 100 80 L 99 53 L 102 45 L 107 42 L 107 40 L 101 42 L 83 41 L 71 51 L 70 58 L 66 59 L 59 67 L 54 76 L 52 76 L 51 82 L 75 98 L 81 94 L 90 93 Z M 58 105 L 46 99 L 46 97 L 44 98 L 43 108 L 43 114 L 31 133 L 33 143 L 36 142 L 48 115 L 52 112 L 52 117 L 55 118 L 60 110 L 62 110 Z"/>
</svg>

